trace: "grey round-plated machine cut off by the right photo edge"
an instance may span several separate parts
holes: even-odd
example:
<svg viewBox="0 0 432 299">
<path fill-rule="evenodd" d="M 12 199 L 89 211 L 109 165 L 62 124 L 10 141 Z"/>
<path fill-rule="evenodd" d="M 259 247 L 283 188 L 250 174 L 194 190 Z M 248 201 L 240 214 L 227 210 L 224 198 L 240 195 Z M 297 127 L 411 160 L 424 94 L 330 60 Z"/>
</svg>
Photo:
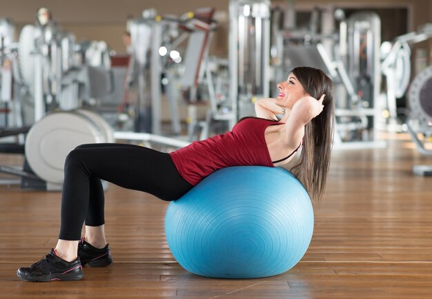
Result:
<svg viewBox="0 0 432 299">
<path fill-rule="evenodd" d="M 411 82 L 409 92 L 410 114 L 406 127 L 418 150 L 432 155 L 432 65 L 425 68 Z M 432 174 L 432 166 L 414 165 L 413 172 L 420 176 Z"/>
</svg>

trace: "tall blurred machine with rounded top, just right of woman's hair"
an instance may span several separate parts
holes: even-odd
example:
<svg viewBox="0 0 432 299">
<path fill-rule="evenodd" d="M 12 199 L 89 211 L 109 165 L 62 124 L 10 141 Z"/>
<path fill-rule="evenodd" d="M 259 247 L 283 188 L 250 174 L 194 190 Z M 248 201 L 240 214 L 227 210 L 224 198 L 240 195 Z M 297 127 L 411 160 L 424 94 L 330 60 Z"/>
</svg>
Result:
<svg viewBox="0 0 432 299">
<path fill-rule="evenodd" d="M 346 65 L 353 84 L 353 98 L 348 92 L 337 94 L 336 129 L 340 141 L 355 147 L 377 146 L 380 72 L 381 21 L 375 12 L 355 12 L 340 24 L 340 60 Z"/>
</svg>

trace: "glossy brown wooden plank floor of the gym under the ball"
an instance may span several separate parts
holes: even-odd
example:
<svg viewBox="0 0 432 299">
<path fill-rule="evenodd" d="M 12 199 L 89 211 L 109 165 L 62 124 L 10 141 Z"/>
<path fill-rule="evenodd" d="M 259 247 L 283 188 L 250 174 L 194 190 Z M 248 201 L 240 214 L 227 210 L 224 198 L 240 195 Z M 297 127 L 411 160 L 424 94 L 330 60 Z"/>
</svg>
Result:
<svg viewBox="0 0 432 299">
<path fill-rule="evenodd" d="M 411 172 L 432 158 L 404 134 L 390 139 L 385 149 L 333 152 L 311 246 L 293 269 L 263 279 L 189 274 L 166 244 L 166 203 L 110 186 L 115 263 L 85 267 L 77 282 L 23 282 L 17 268 L 55 246 L 60 194 L 0 187 L 0 298 L 432 298 L 432 178 Z"/>
</svg>

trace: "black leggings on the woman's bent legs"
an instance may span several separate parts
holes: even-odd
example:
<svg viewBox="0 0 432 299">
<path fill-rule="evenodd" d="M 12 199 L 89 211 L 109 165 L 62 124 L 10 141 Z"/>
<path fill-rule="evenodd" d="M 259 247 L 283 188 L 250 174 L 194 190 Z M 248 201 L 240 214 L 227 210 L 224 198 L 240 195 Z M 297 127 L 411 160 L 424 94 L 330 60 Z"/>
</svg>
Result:
<svg viewBox="0 0 432 299">
<path fill-rule="evenodd" d="M 60 239 L 79 240 L 84 220 L 89 226 L 105 223 L 101 179 L 162 200 L 176 200 L 193 187 L 177 172 L 169 154 L 138 145 L 80 145 L 66 158 Z"/>
</svg>

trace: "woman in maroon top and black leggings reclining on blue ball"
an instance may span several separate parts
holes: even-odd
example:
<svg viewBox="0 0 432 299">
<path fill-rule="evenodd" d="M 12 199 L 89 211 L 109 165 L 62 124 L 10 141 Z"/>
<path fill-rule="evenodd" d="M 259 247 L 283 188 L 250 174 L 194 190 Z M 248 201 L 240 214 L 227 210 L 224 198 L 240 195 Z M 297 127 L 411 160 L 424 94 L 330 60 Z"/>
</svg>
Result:
<svg viewBox="0 0 432 299">
<path fill-rule="evenodd" d="M 82 265 L 112 263 L 104 233 L 101 179 L 121 187 L 176 200 L 215 170 L 238 165 L 274 167 L 291 161 L 292 172 L 315 200 L 324 192 L 333 136 L 333 83 L 314 68 L 295 68 L 277 85 L 277 99 L 255 103 L 257 117 L 243 118 L 231 132 L 166 154 L 137 145 L 90 144 L 74 149 L 65 163 L 61 228 L 55 249 L 31 267 L 29 281 L 79 280 Z M 277 121 L 277 115 L 283 114 Z M 81 227 L 86 223 L 86 235 Z"/>
</svg>

